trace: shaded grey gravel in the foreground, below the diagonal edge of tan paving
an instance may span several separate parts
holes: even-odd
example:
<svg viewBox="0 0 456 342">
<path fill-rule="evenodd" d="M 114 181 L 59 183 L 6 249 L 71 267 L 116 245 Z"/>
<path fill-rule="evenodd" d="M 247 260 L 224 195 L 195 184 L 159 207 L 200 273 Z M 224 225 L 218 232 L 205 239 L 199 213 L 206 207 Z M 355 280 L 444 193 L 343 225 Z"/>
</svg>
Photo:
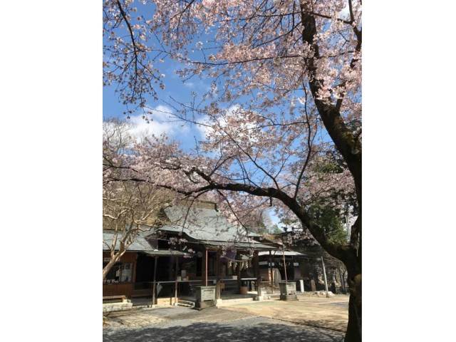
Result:
<svg viewBox="0 0 456 342">
<path fill-rule="evenodd" d="M 344 335 L 340 331 L 217 308 L 197 311 L 174 307 L 135 311 L 110 314 L 109 326 L 103 328 L 103 341 L 339 342 L 343 341 Z"/>
</svg>

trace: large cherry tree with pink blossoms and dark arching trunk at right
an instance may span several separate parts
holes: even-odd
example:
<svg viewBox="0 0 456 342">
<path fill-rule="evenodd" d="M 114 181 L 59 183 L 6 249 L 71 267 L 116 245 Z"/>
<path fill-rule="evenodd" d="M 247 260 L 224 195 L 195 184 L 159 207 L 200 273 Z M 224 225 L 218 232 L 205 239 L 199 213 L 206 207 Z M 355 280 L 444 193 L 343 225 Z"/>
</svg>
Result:
<svg viewBox="0 0 456 342">
<path fill-rule="evenodd" d="M 346 341 L 361 341 L 361 1 L 106 0 L 104 11 L 105 84 L 146 120 L 147 99 L 164 86 L 161 60 L 182 63 L 184 80 L 211 82 L 190 103 L 173 103 L 204 130 L 198 148 L 147 140 L 133 178 L 184 195 L 215 192 L 233 212 L 251 201 L 291 213 L 345 264 Z M 351 202 L 349 242 L 328 238 L 309 209 L 317 200 Z"/>
</svg>

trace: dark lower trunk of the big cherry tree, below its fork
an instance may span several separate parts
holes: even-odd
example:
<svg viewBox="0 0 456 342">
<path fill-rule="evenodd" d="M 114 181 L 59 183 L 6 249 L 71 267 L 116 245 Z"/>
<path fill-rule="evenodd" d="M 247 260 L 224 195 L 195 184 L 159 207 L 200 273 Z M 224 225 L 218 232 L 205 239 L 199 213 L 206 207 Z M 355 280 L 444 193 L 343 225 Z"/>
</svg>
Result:
<svg viewBox="0 0 456 342">
<path fill-rule="evenodd" d="M 350 300 L 348 301 L 348 325 L 344 341 L 361 342 L 361 272 L 348 273 Z"/>
</svg>

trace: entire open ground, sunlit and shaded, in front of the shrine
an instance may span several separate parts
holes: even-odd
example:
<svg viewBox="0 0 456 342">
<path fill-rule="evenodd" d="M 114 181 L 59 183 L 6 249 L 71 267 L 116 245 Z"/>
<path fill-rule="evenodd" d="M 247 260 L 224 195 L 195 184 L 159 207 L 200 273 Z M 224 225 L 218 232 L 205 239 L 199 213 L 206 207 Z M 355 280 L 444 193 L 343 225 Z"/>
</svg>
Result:
<svg viewBox="0 0 456 342">
<path fill-rule="evenodd" d="M 250 301 L 197 311 L 181 306 L 106 314 L 103 341 L 342 341 L 348 296 Z"/>
</svg>

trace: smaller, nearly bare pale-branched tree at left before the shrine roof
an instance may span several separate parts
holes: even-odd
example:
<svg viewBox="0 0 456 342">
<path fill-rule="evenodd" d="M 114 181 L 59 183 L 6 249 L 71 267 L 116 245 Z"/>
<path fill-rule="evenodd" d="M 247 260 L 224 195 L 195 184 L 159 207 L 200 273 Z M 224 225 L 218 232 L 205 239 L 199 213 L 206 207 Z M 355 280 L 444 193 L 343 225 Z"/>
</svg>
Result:
<svg viewBox="0 0 456 342">
<path fill-rule="evenodd" d="M 140 232 L 154 232 L 160 209 L 172 201 L 167 190 L 130 180 L 128 155 L 135 143 L 128 123 L 115 119 L 103 123 L 103 229 L 112 233 L 110 239 L 103 239 L 110 250 L 103 279 Z"/>
</svg>

